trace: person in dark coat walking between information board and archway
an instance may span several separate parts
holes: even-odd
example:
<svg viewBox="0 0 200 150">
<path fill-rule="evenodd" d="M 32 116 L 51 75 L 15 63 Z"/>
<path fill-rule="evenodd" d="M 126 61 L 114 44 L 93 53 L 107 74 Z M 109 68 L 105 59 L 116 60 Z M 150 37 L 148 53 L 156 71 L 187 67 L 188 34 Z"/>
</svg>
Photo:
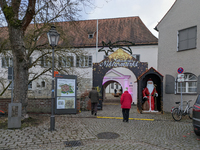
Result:
<svg viewBox="0 0 200 150">
<path fill-rule="evenodd" d="M 99 93 L 95 89 L 95 87 L 92 88 L 92 90 L 89 92 L 88 96 L 91 100 L 91 114 L 97 115 L 97 104 L 99 102 Z"/>
</svg>

